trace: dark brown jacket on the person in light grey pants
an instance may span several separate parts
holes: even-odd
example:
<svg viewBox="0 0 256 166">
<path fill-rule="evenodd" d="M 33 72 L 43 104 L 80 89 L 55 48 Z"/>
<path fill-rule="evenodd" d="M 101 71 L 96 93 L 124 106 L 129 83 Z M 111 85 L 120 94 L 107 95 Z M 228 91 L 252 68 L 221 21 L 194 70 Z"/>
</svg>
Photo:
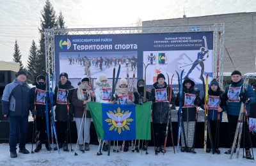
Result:
<svg viewBox="0 0 256 166">
<path fill-rule="evenodd" d="M 90 90 L 86 90 L 86 91 L 90 95 Z M 88 99 L 86 99 L 86 100 L 88 100 Z M 85 109 L 87 109 L 86 110 L 86 117 L 87 118 L 91 118 L 92 117 L 90 115 L 90 112 L 89 112 L 88 108 L 86 108 L 86 105 L 83 105 L 83 101 L 79 100 L 77 98 L 77 88 L 72 93 L 72 105 L 74 106 L 74 117 L 82 118 Z"/>
</svg>

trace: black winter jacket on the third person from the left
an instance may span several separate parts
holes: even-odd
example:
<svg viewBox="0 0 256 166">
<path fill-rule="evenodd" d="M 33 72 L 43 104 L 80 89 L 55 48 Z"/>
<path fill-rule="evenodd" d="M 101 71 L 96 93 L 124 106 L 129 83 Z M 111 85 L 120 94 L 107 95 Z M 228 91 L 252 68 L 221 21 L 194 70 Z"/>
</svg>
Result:
<svg viewBox="0 0 256 166">
<path fill-rule="evenodd" d="M 67 91 L 67 100 L 68 100 L 68 105 L 69 105 L 69 115 L 68 115 L 68 110 L 67 110 L 67 104 L 60 104 L 57 103 L 57 94 L 58 94 L 58 89 L 66 89 Z M 72 114 L 73 114 L 73 106 L 70 104 L 72 103 L 71 97 L 72 93 L 74 91 L 74 86 L 71 85 L 71 82 L 67 80 L 66 84 L 61 85 L 61 82 L 58 82 L 58 86 L 55 87 L 54 89 L 54 105 L 56 105 L 55 108 L 55 119 L 56 121 L 68 121 L 68 116 L 70 117 L 70 121 L 72 121 Z"/>
</svg>

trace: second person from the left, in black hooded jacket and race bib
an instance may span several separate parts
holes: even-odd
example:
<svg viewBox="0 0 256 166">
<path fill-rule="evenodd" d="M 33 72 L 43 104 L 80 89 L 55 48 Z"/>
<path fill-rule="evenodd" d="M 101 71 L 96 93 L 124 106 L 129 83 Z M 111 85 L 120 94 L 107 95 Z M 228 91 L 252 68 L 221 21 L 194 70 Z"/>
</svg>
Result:
<svg viewBox="0 0 256 166">
<path fill-rule="evenodd" d="M 30 110 L 33 114 L 34 121 L 36 123 L 36 131 L 35 135 L 36 138 L 36 149 L 35 152 L 37 153 L 42 149 L 42 143 L 45 143 L 45 147 L 47 151 L 50 151 L 49 142 L 47 139 L 47 129 L 46 129 L 46 110 L 45 110 L 45 103 L 47 100 L 47 89 L 46 89 L 46 82 L 45 76 L 39 74 L 35 77 L 35 86 L 30 89 Z M 48 102 L 49 103 L 49 102 Z M 48 117 L 50 117 L 50 110 L 48 108 Z M 50 122 L 50 118 L 48 119 Z M 50 124 L 49 124 L 50 128 Z M 51 131 L 51 130 L 50 130 Z M 34 132 L 34 131 L 33 131 Z"/>
</svg>

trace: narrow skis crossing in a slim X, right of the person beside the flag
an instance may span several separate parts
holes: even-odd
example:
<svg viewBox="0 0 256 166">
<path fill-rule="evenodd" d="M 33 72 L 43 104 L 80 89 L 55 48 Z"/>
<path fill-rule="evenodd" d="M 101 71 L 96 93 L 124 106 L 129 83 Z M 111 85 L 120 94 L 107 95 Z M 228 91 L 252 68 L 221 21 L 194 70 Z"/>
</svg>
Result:
<svg viewBox="0 0 256 166">
<path fill-rule="evenodd" d="M 170 78 L 169 78 L 169 75 L 168 73 L 166 73 L 167 75 L 167 78 L 168 78 L 168 87 L 170 88 L 169 90 L 169 104 L 171 104 L 171 100 L 172 100 L 172 80 L 171 80 L 171 85 L 170 85 Z M 174 74 L 172 75 L 172 79 L 173 79 L 173 76 Z M 167 124 L 166 124 L 166 131 L 165 131 L 165 138 L 164 138 L 164 152 L 163 152 L 163 155 L 164 153 L 166 153 L 166 142 L 167 142 L 167 137 L 168 137 L 168 128 L 169 128 L 169 123 L 170 123 L 170 126 L 172 126 L 172 113 L 171 113 L 171 108 L 169 108 L 169 112 L 168 112 L 168 119 L 167 119 Z M 173 133 L 172 133 L 172 128 L 171 128 L 171 137 L 172 137 L 172 144 L 173 144 Z M 175 147 L 174 147 L 174 144 L 173 144 L 173 151 L 175 153 Z"/>
</svg>

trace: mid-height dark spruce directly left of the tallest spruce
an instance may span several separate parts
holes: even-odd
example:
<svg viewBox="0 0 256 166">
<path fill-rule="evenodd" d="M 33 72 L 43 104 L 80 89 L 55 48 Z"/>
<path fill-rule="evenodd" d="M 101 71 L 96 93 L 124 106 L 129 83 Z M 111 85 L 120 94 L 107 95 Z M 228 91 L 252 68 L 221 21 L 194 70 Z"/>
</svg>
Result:
<svg viewBox="0 0 256 166">
<path fill-rule="evenodd" d="M 38 66 L 38 54 L 37 54 L 37 47 L 36 47 L 36 43 L 33 40 L 31 47 L 29 49 L 29 56 L 28 56 L 28 65 L 27 65 L 27 69 L 28 69 L 28 80 L 29 83 L 32 83 L 33 80 L 35 79 L 36 75 L 38 75 L 40 73 L 40 70 L 37 70 L 37 66 Z"/>
</svg>

